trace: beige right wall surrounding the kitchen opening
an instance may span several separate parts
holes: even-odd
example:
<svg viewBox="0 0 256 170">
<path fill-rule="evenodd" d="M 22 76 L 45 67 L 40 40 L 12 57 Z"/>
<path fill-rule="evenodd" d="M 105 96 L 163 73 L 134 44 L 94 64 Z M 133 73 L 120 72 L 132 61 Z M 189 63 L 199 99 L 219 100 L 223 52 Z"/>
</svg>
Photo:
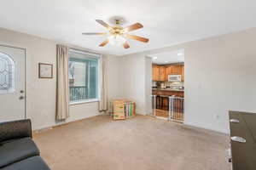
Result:
<svg viewBox="0 0 256 170">
<path fill-rule="evenodd" d="M 229 133 L 228 111 L 256 112 L 256 29 L 249 29 L 121 58 L 120 83 L 125 98 L 136 99 L 137 111 L 147 111 L 144 78 L 148 54 L 184 49 L 185 123 Z M 150 63 L 148 63 L 150 65 Z M 146 66 L 147 67 L 147 66 Z M 145 113 L 145 112 L 144 112 Z"/>
</svg>

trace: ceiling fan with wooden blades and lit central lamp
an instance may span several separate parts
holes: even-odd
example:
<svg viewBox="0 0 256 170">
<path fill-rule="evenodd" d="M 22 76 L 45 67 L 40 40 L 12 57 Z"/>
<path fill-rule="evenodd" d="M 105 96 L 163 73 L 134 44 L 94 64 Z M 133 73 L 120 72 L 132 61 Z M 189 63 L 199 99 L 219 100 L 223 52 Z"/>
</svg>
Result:
<svg viewBox="0 0 256 170">
<path fill-rule="evenodd" d="M 108 38 L 99 45 L 100 47 L 105 46 L 109 42 L 112 45 L 117 45 L 117 46 L 123 45 L 124 48 L 130 48 L 130 45 L 127 42 L 127 38 L 134 39 L 140 42 L 149 41 L 148 38 L 128 34 L 128 32 L 130 31 L 135 31 L 140 28 L 143 28 L 143 25 L 140 23 L 136 23 L 131 26 L 123 28 L 122 26 L 119 26 L 120 20 L 115 20 L 116 26 L 109 26 L 103 20 L 96 20 L 96 22 L 106 27 L 108 29 L 108 32 L 89 32 L 89 33 L 85 32 L 82 34 L 83 35 L 108 35 Z"/>
</svg>

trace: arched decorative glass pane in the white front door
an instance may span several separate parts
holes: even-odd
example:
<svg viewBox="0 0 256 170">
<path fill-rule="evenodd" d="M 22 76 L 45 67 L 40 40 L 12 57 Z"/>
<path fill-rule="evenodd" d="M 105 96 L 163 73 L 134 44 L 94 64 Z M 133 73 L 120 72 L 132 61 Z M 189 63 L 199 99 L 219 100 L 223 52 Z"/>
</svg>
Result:
<svg viewBox="0 0 256 170">
<path fill-rule="evenodd" d="M 0 94 L 15 92 L 15 62 L 0 52 Z"/>
</svg>

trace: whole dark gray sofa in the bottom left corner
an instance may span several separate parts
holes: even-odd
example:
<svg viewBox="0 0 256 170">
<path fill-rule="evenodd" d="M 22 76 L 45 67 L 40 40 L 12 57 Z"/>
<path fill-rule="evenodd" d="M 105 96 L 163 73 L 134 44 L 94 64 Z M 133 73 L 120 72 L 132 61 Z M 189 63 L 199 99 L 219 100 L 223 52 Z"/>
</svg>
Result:
<svg viewBox="0 0 256 170">
<path fill-rule="evenodd" d="M 32 141 L 30 120 L 0 123 L 0 170 L 49 170 Z"/>
</svg>

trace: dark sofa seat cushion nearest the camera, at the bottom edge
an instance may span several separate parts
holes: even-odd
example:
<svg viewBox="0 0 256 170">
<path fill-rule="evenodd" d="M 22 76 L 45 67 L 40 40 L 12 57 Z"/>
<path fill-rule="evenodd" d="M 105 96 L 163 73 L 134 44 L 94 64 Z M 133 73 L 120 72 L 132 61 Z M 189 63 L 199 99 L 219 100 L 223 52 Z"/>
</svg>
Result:
<svg viewBox="0 0 256 170">
<path fill-rule="evenodd" d="M 40 156 L 32 156 L 7 167 L 3 167 L 1 170 L 49 170 L 49 167 Z"/>
</svg>

